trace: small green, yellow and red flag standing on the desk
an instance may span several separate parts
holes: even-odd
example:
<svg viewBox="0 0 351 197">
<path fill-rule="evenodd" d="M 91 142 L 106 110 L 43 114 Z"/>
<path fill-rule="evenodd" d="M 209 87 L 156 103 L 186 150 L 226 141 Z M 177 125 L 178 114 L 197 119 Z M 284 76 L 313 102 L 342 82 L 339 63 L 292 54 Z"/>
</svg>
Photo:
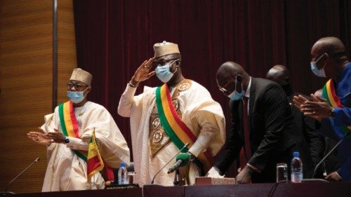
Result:
<svg viewBox="0 0 351 197">
<path fill-rule="evenodd" d="M 93 175 L 104 168 L 104 162 L 100 156 L 98 144 L 96 144 L 95 128 L 93 130 L 89 143 L 88 159 L 86 161 L 86 165 L 88 170 L 88 182 L 91 181 L 91 177 L 93 177 Z"/>
</svg>

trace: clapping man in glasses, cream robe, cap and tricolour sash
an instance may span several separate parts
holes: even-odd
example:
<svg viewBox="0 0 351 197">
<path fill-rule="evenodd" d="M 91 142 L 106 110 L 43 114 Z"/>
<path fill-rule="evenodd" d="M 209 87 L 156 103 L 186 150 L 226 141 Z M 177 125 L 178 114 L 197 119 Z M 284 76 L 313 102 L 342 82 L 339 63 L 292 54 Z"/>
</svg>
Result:
<svg viewBox="0 0 351 197">
<path fill-rule="evenodd" d="M 100 172 L 88 179 L 89 142 L 95 139 L 105 167 L 119 168 L 129 163 L 129 149 L 110 113 L 100 104 L 90 102 L 92 76 L 74 69 L 67 83 L 68 102 L 45 116 L 45 123 L 27 135 L 37 144 L 46 145 L 48 167 L 42 191 L 103 189 Z M 105 168 L 105 170 L 110 170 Z"/>
</svg>

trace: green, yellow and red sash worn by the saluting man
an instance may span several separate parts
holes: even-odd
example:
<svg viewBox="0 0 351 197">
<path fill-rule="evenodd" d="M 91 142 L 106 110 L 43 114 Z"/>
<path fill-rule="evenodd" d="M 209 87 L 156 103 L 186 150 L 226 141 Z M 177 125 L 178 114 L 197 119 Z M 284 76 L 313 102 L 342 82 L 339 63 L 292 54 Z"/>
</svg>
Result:
<svg viewBox="0 0 351 197">
<path fill-rule="evenodd" d="M 190 143 L 191 147 L 197 140 L 197 136 L 192 133 L 190 128 L 178 116 L 166 83 L 156 89 L 156 105 L 161 125 L 168 137 L 176 144 L 176 147 L 182 149 L 187 142 Z M 186 147 L 183 149 L 183 152 L 188 150 Z M 205 151 L 197 156 L 194 163 L 207 172 L 212 167 L 213 157 L 208 151 Z"/>
</svg>

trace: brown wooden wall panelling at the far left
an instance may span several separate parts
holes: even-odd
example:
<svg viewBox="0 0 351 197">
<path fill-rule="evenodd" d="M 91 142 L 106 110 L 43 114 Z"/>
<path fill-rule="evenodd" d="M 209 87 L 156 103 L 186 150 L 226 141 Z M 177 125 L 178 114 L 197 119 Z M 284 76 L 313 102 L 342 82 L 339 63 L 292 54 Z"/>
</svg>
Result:
<svg viewBox="0 0 351 197">
<path fill-rule="evenodd" d="M 26 134 L 52 113 L 52 4 L 51 0 L 0 1 L 0 189 L 41 157 L 9 187 L 15 193 L 41 191 L 46 170 L 46 147 L 34 144 Z M 58 100 L 62 102 L 67 100 L 65 83 L 77 67 L 72 0 L 59 1 L 58 20 Z"/>
</svg>

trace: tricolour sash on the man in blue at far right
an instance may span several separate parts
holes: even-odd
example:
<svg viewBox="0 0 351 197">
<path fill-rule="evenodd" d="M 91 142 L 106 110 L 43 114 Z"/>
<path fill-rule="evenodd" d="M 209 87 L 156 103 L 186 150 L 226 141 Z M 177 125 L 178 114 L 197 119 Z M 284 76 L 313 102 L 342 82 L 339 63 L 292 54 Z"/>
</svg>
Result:
<svg viewBox="0 0 351 197">
<path fill-rule="evenodd" d="M 329 79 L 329 81 L 326 82 L 326 85 L 324 85 L 323 97 L 326 99 L 326 102 L 328 102 L 331 107 L 340 107 L 340 108 L 345 107 L 341 103 L 338 95 L 336 95 L 336 90 L 335 90 L 333 79 Z M 351 126 L 338 127 L 338 129 L 340 129 L 343 132 L 343 134 L 345 135 L 345 133 L 351 131 Z"/>
</svg>

